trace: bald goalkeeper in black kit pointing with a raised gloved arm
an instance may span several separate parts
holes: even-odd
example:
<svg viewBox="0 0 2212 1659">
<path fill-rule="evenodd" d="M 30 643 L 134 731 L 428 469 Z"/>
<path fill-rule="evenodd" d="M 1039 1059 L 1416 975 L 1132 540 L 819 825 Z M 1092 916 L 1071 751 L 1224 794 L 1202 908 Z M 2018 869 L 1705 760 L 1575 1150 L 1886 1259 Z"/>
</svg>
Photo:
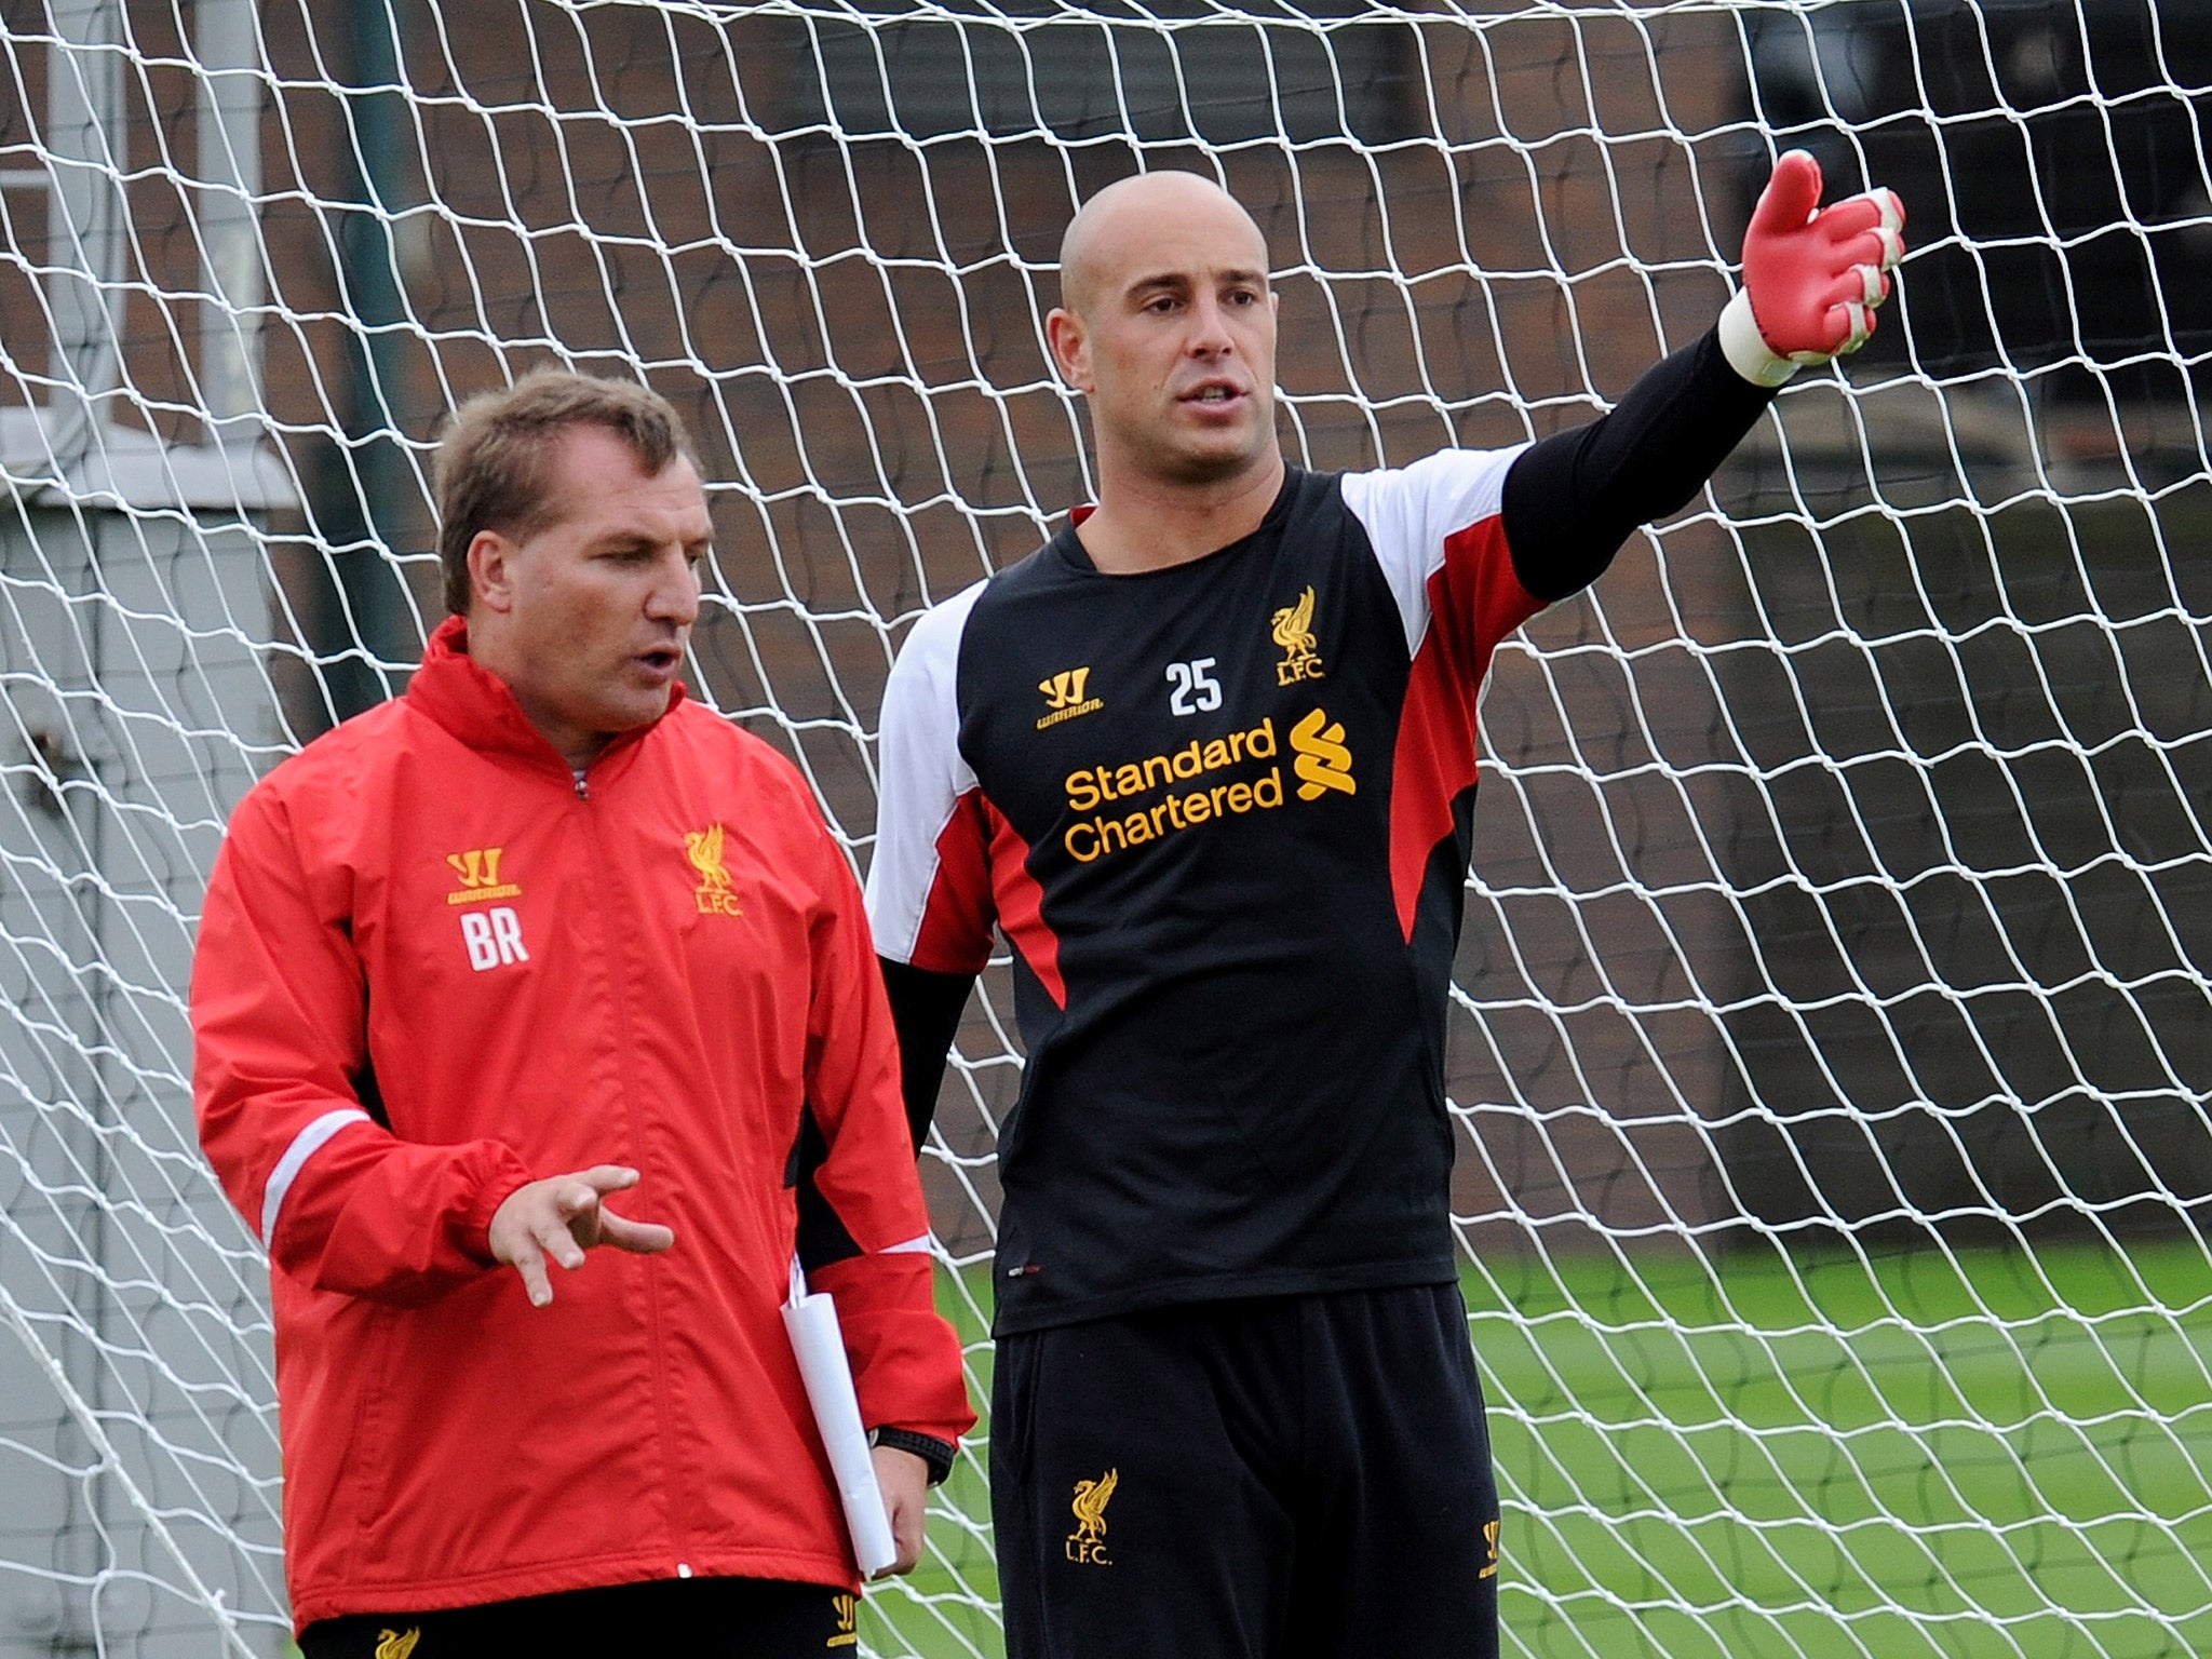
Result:
<svg viewBox="0 0 2212 1659">
<path fill-rule="evenodd" d="M 1068 226 L 1046 332 L 1099 500 L 916 624 L 869 872 L 916 1139 L 993 929 L 1013 951 L 1011 1659 L 1498 1652 L 1444 1110 L 1475 699 L 1867 338 L 1902 210 L 1818 201 L 1785 155 L 1743 292 L 1601 420 L 1367 473 L 1283 460 L 1237 201 L 1157 173 Z"/>
</svg>

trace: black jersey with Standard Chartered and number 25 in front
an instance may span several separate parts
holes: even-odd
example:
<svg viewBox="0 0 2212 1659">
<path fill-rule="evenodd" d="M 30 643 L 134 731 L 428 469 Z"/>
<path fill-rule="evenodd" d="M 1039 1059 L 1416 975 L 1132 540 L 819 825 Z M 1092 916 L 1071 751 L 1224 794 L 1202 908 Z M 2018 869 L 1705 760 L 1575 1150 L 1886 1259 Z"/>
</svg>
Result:
<svg viewBox="0 0 2212 1659">
<path fill-rule="evenodd" d="M 887 962 L 962 993 L 993 925 L 1013 947 L 1000 1332 L 1453 1279 L 1475 699 L 1498 641 L 1661 507 L 1646 484 L 1637 518 L 1584 522 L 1606 489 L 1657 465 L 1679 502 L 1765 405 L 1714 365 L 1710 341 L 1670 358 L 1610 438 L 1292 469 L 1190 564 L 1104 575 L 1068 526 L 916 624 L 869 911 Z M 1699 405 L 1692 442 L 1686 392 L 1730 429 Z M 1531 482 L 1579 493 L 1515 515 Z"/>
</svg>

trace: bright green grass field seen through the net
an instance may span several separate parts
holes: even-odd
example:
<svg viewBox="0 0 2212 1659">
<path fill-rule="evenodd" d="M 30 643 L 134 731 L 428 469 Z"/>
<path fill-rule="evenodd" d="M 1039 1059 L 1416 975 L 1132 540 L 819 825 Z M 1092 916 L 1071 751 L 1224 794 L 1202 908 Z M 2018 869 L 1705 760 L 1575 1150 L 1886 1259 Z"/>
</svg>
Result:
<svg viewBox="0 0 2212 1659">
<path fill-rule="evenodd" d="M 1464 1290 L 1509 1655 L 2212 1655 L 2199 1243 L 1593 1256 Z M 869 1599 L 878 1655 L 1000 1652 L 980 1471 L 945 1495 L 964 1524 L 931 1522 L 914 1595 Z"/>
</svg>

